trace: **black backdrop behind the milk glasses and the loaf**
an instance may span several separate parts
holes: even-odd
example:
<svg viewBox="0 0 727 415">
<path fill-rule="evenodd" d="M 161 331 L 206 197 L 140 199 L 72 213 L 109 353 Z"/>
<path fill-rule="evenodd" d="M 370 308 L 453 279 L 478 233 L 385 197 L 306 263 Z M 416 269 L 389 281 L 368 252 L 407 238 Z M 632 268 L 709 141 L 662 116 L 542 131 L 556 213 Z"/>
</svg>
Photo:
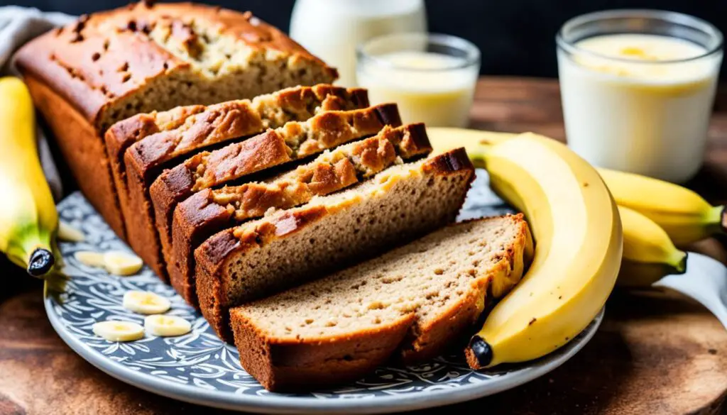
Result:
<svg viewBox="0 0 727 415">
<path fill-rule="evenodd" d="M 366 1 L 366 0 L 358 0 Z M 391 0 L 396 1 L 396 0 Z M 666 9 L 702 17 L 727 31 L 727 0 L 425 0 L 429 29 L 473 41 L 487 75 L 556 76 L 558 28 L 571 17 L 603 9 Z M 284 31 L 294 0 L 199 0 L 251 10 Z M 75 15 L 128 4 L 129 0 L 0 0 Z M 723 66 L 723 79 L 727 70 Z"/>
</svg>

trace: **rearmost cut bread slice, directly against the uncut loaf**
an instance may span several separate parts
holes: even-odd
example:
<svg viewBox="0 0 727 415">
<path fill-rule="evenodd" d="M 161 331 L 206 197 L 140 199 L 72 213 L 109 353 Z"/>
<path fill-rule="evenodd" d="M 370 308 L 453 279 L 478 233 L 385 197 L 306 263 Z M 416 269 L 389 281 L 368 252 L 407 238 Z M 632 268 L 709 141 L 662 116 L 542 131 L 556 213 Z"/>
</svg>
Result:
<svg viewBox="0 0 727 415">
<path fill-rule="evenodd" d="M 121 214 L 130 217 L 124 153 L 134 142 L 160 132 L 190 134 L 191 142 L 224 141 L 278 128 L 288 121 L 306 121 L 329 110 L 355 110 L 369 106 L 366 89 L 345 89 L 326 84 L 295 86 L 252 100 L 235 100 L 216 105 L 190 105 L 172 110 L 141 113 L 113 124 L 104 136 L 113 182 L 114 198 L 119 199 Z M 217 134 L 214 139 L 210 135 Z M 161 144 L 159 144 L 161 146 Z"/>
</svg>

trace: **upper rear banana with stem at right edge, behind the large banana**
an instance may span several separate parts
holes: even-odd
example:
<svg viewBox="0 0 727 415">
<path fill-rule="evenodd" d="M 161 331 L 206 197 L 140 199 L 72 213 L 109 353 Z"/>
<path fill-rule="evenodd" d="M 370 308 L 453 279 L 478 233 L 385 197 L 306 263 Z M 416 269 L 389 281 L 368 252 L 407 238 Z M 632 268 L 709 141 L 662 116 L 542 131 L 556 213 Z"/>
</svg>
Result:
<svg viewBox="0 0 727 415">
<path fill-rule="evenodd" d="M 465 147 L 475 166 L 482 167 L 487 145 L 517 134 L 469 129 L 427 129 L 435 152 Z M 638 174 L 598 169 L 616 204 L 638 211 L 664 228 L 676 246 L 684 246 L 727 230 L 726 206 L 711 206 L 691 190 Z"/>
</svg>

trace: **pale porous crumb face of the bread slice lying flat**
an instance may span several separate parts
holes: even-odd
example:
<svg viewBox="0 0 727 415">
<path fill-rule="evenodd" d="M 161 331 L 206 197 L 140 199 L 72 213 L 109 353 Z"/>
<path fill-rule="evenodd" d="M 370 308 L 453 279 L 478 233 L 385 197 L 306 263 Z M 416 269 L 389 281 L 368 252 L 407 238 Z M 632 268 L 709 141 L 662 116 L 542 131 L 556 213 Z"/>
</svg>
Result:
<svg viewBox="0 0 727 415">
<path fill-rule="evenodd" d="M 272 342 L 324 342 L 416 315 L 427 327 L 473 294 L 484 300 L 491 277 L 514 285 L 527 235 L 522 217 L 445 227 L 414 243 L 297 289 L 235 309 Z M 508 253 L 519 246 L 519 255 Z M 499 293 L 502 295 L 502 293 Z M 480 309 L 481 311 L 481 309 Z M 233 314 L 233 318 L 234 318 Z"/>
</svg>

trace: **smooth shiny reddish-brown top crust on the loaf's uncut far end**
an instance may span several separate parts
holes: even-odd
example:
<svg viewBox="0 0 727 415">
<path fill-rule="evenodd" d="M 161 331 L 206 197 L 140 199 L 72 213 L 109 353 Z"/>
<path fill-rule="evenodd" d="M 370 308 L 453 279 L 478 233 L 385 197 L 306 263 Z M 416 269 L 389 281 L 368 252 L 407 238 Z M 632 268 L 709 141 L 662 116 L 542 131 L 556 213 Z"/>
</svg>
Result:
<svg viewBox="0 0 727 415">
<path fill-rule="evenodd" d="M 52 85 L 66 104 L 97 128 L 101 127 L 100 113 L 112 102 L 133 94 L 148 80 L 164 76 L 167 70 L 189 67 L 132 31 L 100 32 L 97 26 L 102 16 L 82 17 L 49 31 L 25 44 L 16 55 L 24 76 Z M 131 78 L 124 81 L 127 74 Z"/>
</svg>

